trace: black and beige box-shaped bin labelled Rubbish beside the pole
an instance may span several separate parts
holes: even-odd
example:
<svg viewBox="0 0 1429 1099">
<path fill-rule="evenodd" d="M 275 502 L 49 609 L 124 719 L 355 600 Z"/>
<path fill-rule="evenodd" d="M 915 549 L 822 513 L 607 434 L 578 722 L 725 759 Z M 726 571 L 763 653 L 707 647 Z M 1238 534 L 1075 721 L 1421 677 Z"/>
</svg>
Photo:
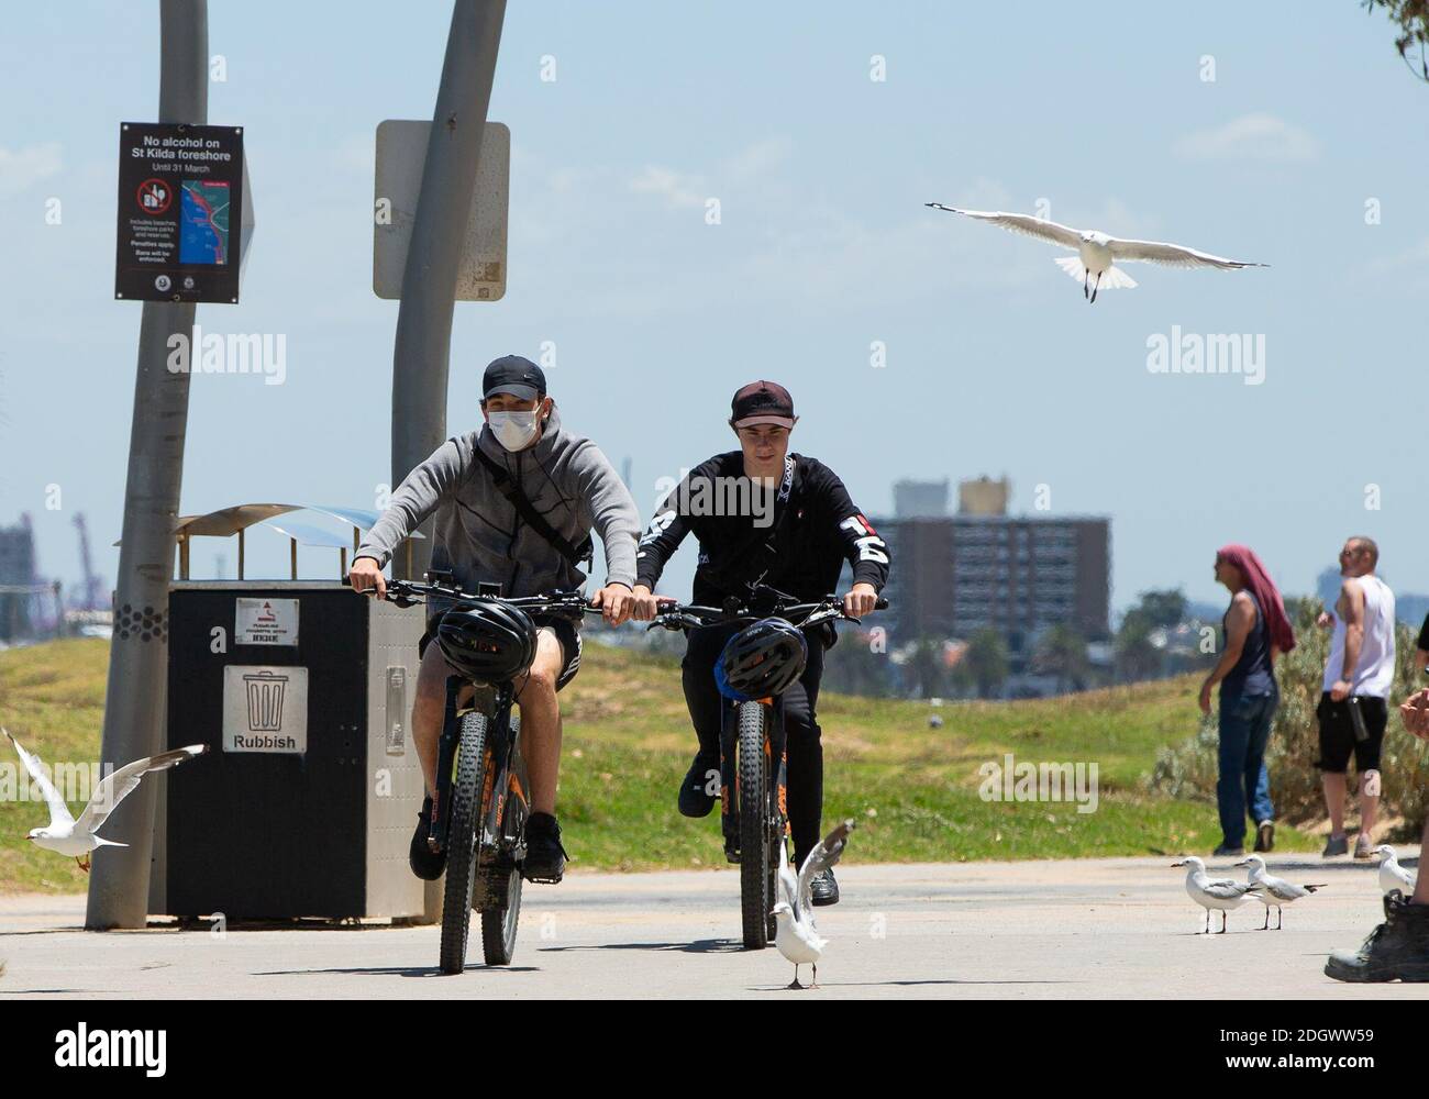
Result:
<svg viewBox="0 0 1429 1099">
<path fill-rule="evenodd" d="M 167 743 L 210 755 L 161 785 L 149 910 L 424 919 L 423 607 L 320 580 L 174 582 L 169 607 Z"/>
</svg>

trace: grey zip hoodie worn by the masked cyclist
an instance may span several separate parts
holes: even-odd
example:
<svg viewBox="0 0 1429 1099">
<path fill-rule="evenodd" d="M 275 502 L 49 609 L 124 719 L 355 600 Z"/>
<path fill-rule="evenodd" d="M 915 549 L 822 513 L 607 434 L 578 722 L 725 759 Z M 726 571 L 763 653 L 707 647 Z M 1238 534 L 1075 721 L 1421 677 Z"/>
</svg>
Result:
<svg viewBox="0 0 1429 1099">
<path fill-rule="evenodd" d="M 584 575 L 537 534 L 496 489 L 474 447 L 506 467 L 552 527 L 579 544 L 594 527 L 606 550 L 607 583 L 634 585 L 640 516 L 624 483 L 594 443 L 570 434 L 552 407 L 536 446 L 512 453 L 484 424 L 447 439 L 407 474 L 392 504 L 367 532 L 357 557 L 386 565 L 429 514 L 436 513 L 432 567 L 450 569 L 457 587 L 502 585 L 504 596 L 579 587 Z M 434 609 L 434 607 L 429 607 Z"/>
</svg>

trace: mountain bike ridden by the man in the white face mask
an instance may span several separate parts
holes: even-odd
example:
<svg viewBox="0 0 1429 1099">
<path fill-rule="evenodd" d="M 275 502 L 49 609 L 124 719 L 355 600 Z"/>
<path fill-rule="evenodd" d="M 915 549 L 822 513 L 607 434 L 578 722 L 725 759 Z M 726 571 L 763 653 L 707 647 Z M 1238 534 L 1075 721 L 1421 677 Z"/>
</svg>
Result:
<svg viewBox="0 0 1429 1099">
<path fill-rule="evenodd" d="M 453 609 L 460 609 L 483 599 L 500 599 L 500 585 L 477 585 L 472 595 L 443 583 L 387 582 L 386 597 L 397 606 L 414 606 L 429 596 L 450 599 Z M 527 615 L 574 620 L 600 613 L 580 592 L 502 602 Z M 472 696 L 463 702 L 469 687 Z M 516 953 L 530 783 L 522 757 L 520 716 L 512 712 L 513 702 L 510 680 L 474 683 L 459 675 L 447 676 L 437 789 L 427 833 L 427 846 L 447 853 L 442 903 L 443 973 L 460 973 L 466 968 L 473 910 L 482 916 L 486 965 L 509 965 Z"/>
</svg>

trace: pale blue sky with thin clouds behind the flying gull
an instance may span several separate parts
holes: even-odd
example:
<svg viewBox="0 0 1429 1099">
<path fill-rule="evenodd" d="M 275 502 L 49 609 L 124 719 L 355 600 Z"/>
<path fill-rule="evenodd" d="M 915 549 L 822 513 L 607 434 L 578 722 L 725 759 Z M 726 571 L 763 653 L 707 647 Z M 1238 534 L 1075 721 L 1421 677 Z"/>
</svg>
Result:
<svg viewBox="0 0 1429 1099">
<path fill-rule="evenodd" d="M 282 334 L 286 363 L 280 386 L 193 379 L 181 512 L 370 507 L 397 317 L 370 280 L 374 131 L 432 117 L 452 9 L 209 9 L 209 121 L 244 127 L 256 230 L 242 303 L 197 319 Z M 17 6 L 0 41 L 0 524 L 27 512 L 67 585 L 77 512 L 117 569 L 140 322 L 113 297 L 117 137 L 157 113 L 157 51 L 151 1 Z M 1109 516 L 1116 609 L 1223 602 L 1226 542 L 1309 592 L 1352 533 L 1429 590 L 1429 86 L 1385 16 L 526 0 L 490 117 L 512 130 L 509 286 L 457 304 L 449 433 L 490 359 L 553 347 L 564 424 L 630 462 L 646 519 L 663 479 L 735 446 L 729 399 L 765 377 L 870 516 L 896 480 L 979 474 L 1015 512 Z M 1067 253 L 927 202 L 1270 266 L 1130 264 L 1139 286 L 1089 306 Z M 1262 382 L 1155 373 L 1177 333 L 1263 340 Z M 219 555 L 231 576 L 231 542 L 196 542 L 194 576 Z M 249 562 L 284 576 L 286 542 L 253 533 Z"/>
</svg>

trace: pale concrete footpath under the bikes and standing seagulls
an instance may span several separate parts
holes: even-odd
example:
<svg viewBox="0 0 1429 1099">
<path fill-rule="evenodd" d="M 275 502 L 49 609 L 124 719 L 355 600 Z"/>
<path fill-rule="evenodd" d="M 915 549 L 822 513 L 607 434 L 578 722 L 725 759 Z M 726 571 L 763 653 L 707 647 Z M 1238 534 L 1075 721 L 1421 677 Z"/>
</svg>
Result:
<svg viewBox="0 0 1429 1099">
<path fill-rule="evenodd" d="M 1410 865 L 1416 849 L 1402 849 Z M 1383 918 L 1372 863 L 1272 856 L 1328 887 L 1259 930 L 1252 902 L 1226 935 L 1173 859 L 846 866 L 819 988 L 786 992 L 773 948 L 739 945 L 732 870 L 572 873 L 527 886 L 516 959 L 436 970 L 436 928 L 80 930 L 83 896 L 0 896 L 0 999 L 24 998 L 1273 998 L 1423 999 L 1429 985 L 1342 985 L 1320 972 Z M 1242 876 L 1213 860 L 1213 876 Z M 1219 916 L 1216 918 L 1219 928 Z M 1273 920 L 1272 920 L 1273 926 Z M 809 969 L 802 970 L 805 982 Z"/>
</svg>

